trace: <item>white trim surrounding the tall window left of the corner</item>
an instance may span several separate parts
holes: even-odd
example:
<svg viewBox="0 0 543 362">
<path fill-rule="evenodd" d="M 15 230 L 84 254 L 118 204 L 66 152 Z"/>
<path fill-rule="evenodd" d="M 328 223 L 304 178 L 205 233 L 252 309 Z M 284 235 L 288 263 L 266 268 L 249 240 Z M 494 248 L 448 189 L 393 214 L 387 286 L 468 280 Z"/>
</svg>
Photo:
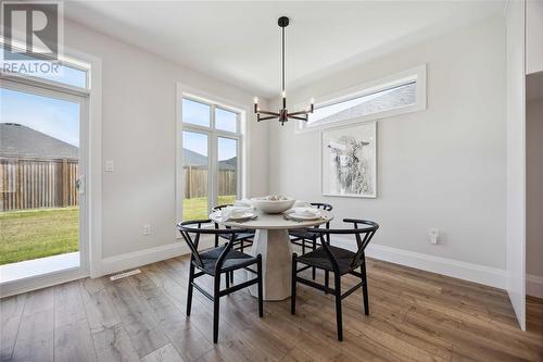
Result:
<svg viewBox="0 0 543 362">
<path fill-rule="evenodd" d="M 229 110 L 232 112 L 238 113 L 238 125 L 237 125 L 237 132 L 228 132 L 228 130 L 220 130 L 220 129 L 215 129 L 214 128 L 214 117 L 212 116 L 210 118 L 210 127 L 205 126 L 200 126 L 200 125 L 193 125 L 190 123 L 184 123 L 182 122 L 182 99 L 188 98 L 194 101 L 207 103 L 207 104 L 214 104 L 215 108 L 220 108 L 224 110 Z M 211 112 L 213 112 L 213 109 Z M 249 172 L 249 165 L 247 162 L 247 158 L 244 157 L 247 152 L 247 115 L 248 115 L 249 109 L 247 105 L 239 104 L 235 101 L 228 100 L 226 98 L 215 96 L 212 93 L 209 93 L 206 91 L 195 89 L 189 86 L 186 86 L 181 83 L 177 84 L 177 97 L 176 97 L 176 220 L 177 222 L 182 220 L 182 200 L 184 200 L 184 195 L 185 195 L 185 179 L 184 179 L 184 173 L 182 173 L 182 132 L 188 130 L 188 132 L 195 132 L 195 133 L 204 133 L 209 135 L 209 137 L 212 137 L 212 141 L 209 141 L 209 149 L 207 149 L 207 154 L 210 160 L 213 160 L 212 154 L 215 154 L 217 152 L 217 142 L 216 137 L 223 137 L 223 138 L 230 138 L 230 139 L 237 139 L 238 140 L 238 186 L 237 186 L 237 194 L 238 197 L 242 198 L 247 195 L 247 175 Z M 211 161 L 213 162 L 213 161 Z M 214 164 L 210 165 L 216 172 L 216 168 Z M 217 175 L 213 177 L 213 179 L 217 179 Z M 209 185 L 209 204 L 211 205 L 212 200 L 214 200 L 217 195 L 216 190 L 216 185 L 213 183 L 210 183 Z M 176 230 L 176 238 L 179 238 L 180 235 Z"/>
</svg>

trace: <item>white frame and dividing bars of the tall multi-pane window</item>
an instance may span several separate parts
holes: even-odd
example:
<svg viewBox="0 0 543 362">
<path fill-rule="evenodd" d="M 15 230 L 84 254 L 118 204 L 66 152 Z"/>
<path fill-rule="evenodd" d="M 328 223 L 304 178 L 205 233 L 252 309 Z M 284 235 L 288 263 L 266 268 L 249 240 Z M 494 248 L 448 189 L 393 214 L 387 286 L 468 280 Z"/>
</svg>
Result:
<svg viewBox="0 0 543 362">
<path fill-rule="evenodd" d="M 185 199 L 185 176 L 182 172 L 182 133 L 185 130 L 204 134 L 207 136 L 207 167 L 210 172 L 210 180 L 207 185 L 207 210 L 211 211 L 215 207 L 215 200 L 218 201 L 218 138 L 235 139 L 237 141 L 237 186 L 236 198 L 241 198 L 244 195 L 244 120 L 247 110 L 243 107 L 236 105 L 235 102 L 220 99 L 219 97 L 206 95 L 202 91 L 190 89 L 178 84 L 177 91 L 177 153 L 176 153 L 176 167 L 177 167 L 177 197 L 176 197 L 176 216 L 177 220 L 182 219 L 182 201 Z M 189 99 L 194 102 L 210 105 L 210 127 L 184 123 L 182 122 L 182 100 Z M 233 112 L 237 114 L 236 132 L 228 132 L 217 129 L 215 127 L 215 110 L 222 109 L 225 111 Z M 178 238 L 179 235 L 176 234 Z"/>
</svg>

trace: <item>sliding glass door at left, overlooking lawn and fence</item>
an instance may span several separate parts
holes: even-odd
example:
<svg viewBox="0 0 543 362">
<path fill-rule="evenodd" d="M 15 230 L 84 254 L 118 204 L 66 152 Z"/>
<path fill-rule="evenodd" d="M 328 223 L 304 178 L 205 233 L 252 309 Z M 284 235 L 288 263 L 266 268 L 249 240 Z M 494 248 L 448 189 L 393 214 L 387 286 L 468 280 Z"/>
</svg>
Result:
<svg viewBox="0 0 543 362">
<path fill-rule="evenodd" d="M 0 87 L 0 283 L 86 267 L 86 98 Z"/>
</svg>

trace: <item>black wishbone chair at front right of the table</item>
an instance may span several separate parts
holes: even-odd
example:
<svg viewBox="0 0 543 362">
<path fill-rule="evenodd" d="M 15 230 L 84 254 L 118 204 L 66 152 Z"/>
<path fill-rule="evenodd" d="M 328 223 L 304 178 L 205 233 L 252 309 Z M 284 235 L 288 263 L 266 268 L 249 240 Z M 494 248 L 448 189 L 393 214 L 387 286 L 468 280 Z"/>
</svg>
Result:
<svg viewBox="0 0 543 362">
<path fill-rule="evenodd" d="M 366 276 L 366 258 L 364 254 L 364 250 L 379 228 L 379 225 L 377 223 L 367 220 L 343 219 L 343 222 L 353 224 L 354 228 L 313 228 L 311 229 L 311 232 L 319 235 L 320 247 L 301 257 L 298 257 L 295 253 L 292 254 L 292 297 L 290 304 L 291 314 L 295 314 L 296 312 L 296 283 L 305 284 L 310 287 L 324 290 L 325 292 L 333 294 L 336 296 L 336 321 L 338 327 L 338 340 L 343 340 L 343 322 L 341 313 L 341 300 L 343 298 L 350 296 L 352 292 L 356 291 L 356 289 L 362 287 L 364 297 L 364 312 L 366 315 L 369 314 L 368 280 Z M 361 228 L 359 226 L 363 227 Z M 356 252 L 331 246 L 329 240 L 325 239 L 325 236 L 330 235 L 354 235 L 357 246 Z M 325 273 L 333 273 L 333 289 L 329 287 L 328 278 L 325 279 L 325 285 L 320 285 L 313 280 L 304 279 L 298 276 L 299 272 L 306 269 L 306 266 L 304 266 L 299 271 L 298 263 L 302 263 L 308 266 L 315 266 L 316 269 L 321 269 L 325 271 Z M 361 269 L 359 273 L 356 272 L 356 269 L 358 267 Z M 362 282 L 344 294 L 341 294 L 341 276 L 345 274 L 357 276 L 362 279 Z"/>
</svg>

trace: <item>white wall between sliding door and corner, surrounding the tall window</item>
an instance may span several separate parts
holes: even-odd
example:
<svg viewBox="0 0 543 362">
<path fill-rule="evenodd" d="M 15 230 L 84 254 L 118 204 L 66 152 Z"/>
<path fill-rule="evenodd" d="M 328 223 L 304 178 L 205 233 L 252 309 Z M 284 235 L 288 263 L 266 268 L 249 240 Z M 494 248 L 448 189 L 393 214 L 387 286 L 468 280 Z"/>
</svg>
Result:
<svg viewBox="0 0 543 362">
<path fill-rule="evenodd" d="M 111 36 L 65 24 L 68 48 L 102 60 L 102 155 L 115 165 L 113 173 L 102 176 L 102 257 L 128 267 L 126 253 L 137 259 L 149 248 L 159 248 L 163 257 L 178 251 L 167 248 L 176 237 L 176 83 L 247 104 L 249 110 L 255 95 Z M 252 114 L 248 122 L 249 189 L 251 195 L 263 195 L 267 129 Z M 146 223 L 152 227 L 150 236 L 142 235 Z M 112 267 L 104 266 L 109 272 Z"/>
</svg>

